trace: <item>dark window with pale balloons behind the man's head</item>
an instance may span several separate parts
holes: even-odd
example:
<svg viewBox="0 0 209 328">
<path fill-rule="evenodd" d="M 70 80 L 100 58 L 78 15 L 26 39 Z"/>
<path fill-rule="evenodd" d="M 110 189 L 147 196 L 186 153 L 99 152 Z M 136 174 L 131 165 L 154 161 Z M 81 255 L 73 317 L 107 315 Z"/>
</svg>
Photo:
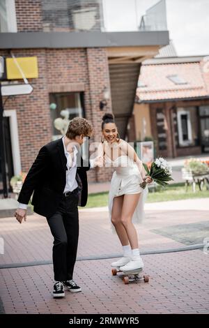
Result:
<svg viewBox="0 0 209 328">
<path fill-rule="evenodd" d="M 65 134 L 68 124 L 74 117 L 84 117 L 82 94 L 79 92 L 50 94 L 53 139 Z"/>
</svg>

